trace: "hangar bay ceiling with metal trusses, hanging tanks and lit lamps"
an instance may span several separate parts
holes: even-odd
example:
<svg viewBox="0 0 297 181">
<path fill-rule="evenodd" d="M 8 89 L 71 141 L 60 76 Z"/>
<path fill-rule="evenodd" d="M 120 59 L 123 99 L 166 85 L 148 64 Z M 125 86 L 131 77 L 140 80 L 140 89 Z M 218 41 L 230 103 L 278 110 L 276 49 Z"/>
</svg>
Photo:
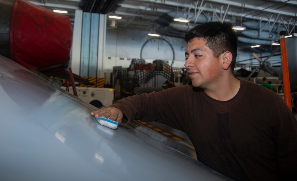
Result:
<svg viewBox="0 0 297 181">
<path fill-rule="evenodd" d="M 75 9 L 84 12 L 119 15 L 107 18 L 108 27 L 136 28 L 165 36 L 183 37 L 193 26 L 206 21 L 229 21 L 244 26 L 239 41 L 270 45 L 280 35 L 295 32 L 297 1 L 293 0 L 29 0 L 48 9 L 67 10 L 74 22 Z M 189 23 L 174 22 L 181 17 Z M 259 26 L 259 24 L 261 26 Z"/>
</svg>

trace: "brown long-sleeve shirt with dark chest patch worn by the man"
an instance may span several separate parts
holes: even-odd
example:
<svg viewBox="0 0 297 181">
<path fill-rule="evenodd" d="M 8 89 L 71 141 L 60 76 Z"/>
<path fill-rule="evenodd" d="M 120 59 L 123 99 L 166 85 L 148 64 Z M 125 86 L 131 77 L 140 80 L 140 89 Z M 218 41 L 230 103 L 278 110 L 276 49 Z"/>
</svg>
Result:
<svg viewBox="0 0 297 181">
<path fill-rule="evenodd" d="M 198 161 L 235 180 L 297 180 L 297 122 L 277 93 L 240 80 L 217 101 L 184 85 L 121 99 L 127 120 L 159 121 L 184 131 Z"/>
</svg>

